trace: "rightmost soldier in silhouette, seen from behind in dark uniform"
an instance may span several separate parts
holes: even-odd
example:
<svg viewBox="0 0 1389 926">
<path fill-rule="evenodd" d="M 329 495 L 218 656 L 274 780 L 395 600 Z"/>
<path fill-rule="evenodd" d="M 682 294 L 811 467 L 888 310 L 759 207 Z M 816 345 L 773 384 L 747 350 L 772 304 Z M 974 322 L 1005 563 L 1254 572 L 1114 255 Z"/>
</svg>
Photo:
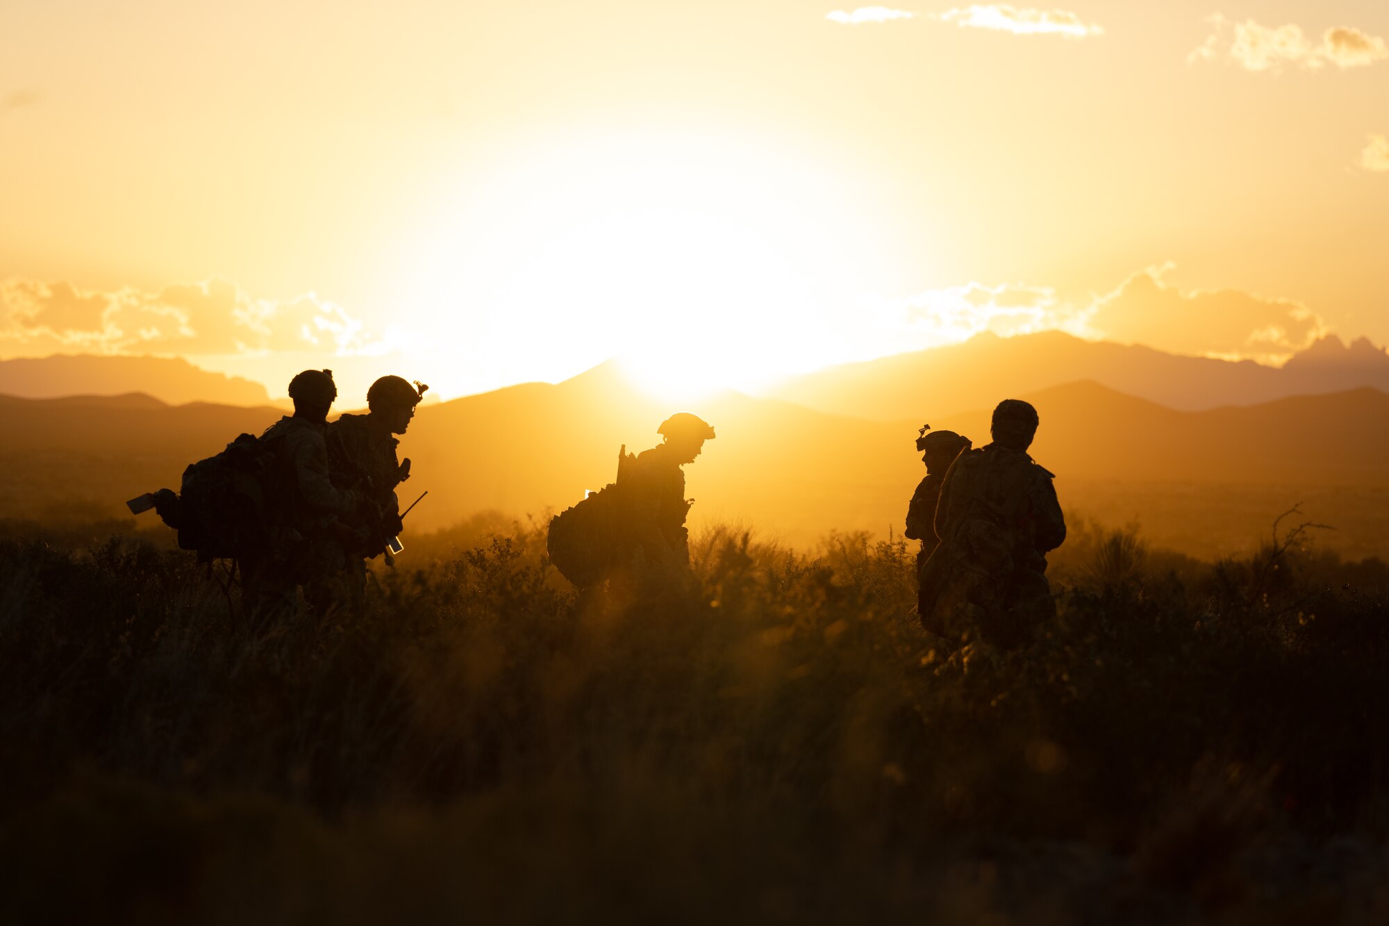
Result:
<svg viewBox="0 0 1389 926">
<path fill-rule="evenodd" d="M 1036 430 L 1036 409 L 1004 399 L 993 410 L 993 442 L 963 452 L 946 473 L 940 545 L 921 576 L 926 630 L 1007 649 L 1054 616 L 1046 553 L 1065 539 L 1065 519 L 1054 477 L 1026 453 Z"/>
</svg>

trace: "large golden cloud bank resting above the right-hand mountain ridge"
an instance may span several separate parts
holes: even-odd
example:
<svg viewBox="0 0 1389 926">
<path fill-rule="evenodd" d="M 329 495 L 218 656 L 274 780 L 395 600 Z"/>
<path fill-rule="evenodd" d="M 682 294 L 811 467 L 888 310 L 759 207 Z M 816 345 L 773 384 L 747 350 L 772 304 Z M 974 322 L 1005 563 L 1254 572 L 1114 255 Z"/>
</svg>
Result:
<svg viewBox="0 0 1389 926">
<path fill-rule="evenodd" d="M 1149 268 L 1086 311 L 1093 335 L 1172 353 L 1279 363 L 1328 334 L 1311 310 L 1238 289 L 1183 292 Z"/>
</svg>

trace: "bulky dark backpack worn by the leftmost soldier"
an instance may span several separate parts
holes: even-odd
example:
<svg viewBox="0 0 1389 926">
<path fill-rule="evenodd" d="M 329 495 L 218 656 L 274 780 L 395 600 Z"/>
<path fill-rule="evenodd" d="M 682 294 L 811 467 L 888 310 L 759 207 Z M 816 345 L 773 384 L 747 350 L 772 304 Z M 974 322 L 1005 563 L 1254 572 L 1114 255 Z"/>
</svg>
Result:
<svg viewBox="0 0 1389 926">
<path fill-rule="evenodd" d="M 265 549 L 278 520 L 276 442 L 242 434 L 226 448 L 183 470 L 179 488 L 179 549 L 197 562 L 236 559 Z"/>
</svg>

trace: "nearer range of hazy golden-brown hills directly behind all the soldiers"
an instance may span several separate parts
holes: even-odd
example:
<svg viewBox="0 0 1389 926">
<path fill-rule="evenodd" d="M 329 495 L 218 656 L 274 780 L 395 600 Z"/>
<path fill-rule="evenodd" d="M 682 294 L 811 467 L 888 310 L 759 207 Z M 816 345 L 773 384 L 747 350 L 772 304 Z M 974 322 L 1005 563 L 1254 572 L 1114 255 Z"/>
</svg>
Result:
<svg viewBox="0 0 1389 926">
<path fill-rule="evenodd" d="M 1356 555 L 1389 556 L 1389 395 L 1356 389 L 1250 407 L 1179 412 L 1096 382 L 1031 395 L 1042 414 L 1033 445 L 1057 474 L 1070 512 L 1139 519 L 1163 542 L 1218 555 L 1267 534 L 1299 501 L 1338 526 L 1328 541 Z M 42 514 L 81 502 L 121 503 L 178 485 L 183 467 L 240 431 L 258 432 L 279 412 L 150 405 L 149 398 L 0 399 L 0 510 Z M 563 509 L 614 478 L 618 446 L 656 445 L 675 412 L 631 388 L 614 364 L 558 385 L 524 384 L 422 406 L 401 453 L 415 476 L 400 495 L 429 498 L 410 533 L 446 527 L 481 510 L 539 514 Z M 692 410 L 718 438 L 686 469 L 697 499 L 692 526 L 732 521 L 764 537 L 807 544 L 822 534 L 900 530 L 924 476 L 913 448 L 918 421 L 878 423 L 825 414 L 736 392 Z M 976 445 L 989 410 L 932 421 Z"/>
</svg>

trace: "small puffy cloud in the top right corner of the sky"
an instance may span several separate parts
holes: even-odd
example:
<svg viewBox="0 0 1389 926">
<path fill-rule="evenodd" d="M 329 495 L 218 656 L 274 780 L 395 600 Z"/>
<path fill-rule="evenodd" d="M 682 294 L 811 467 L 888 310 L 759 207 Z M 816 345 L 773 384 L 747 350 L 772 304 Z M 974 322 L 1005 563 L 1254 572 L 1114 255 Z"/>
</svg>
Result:
<svg viewBox="0 0 1389 926">
<path fill-rule="evenodd" d="M 1276 72 L 1283 67 L 1315 71 L 1328 64 L 1346 70 L 1389 58 L 1389 44 L 1383 39 L 1351 26 L 1326 29 L 1314 42 L 1295 24 L 1265 26 L 1253 19 L 1232 24 L 1221 15 L 1207 21 L 1214 32 L 1186 56 L 1188 63 L 1214 61 L 1226 42 L 1226 56 L 1246 71 Z"/>
</svg>

